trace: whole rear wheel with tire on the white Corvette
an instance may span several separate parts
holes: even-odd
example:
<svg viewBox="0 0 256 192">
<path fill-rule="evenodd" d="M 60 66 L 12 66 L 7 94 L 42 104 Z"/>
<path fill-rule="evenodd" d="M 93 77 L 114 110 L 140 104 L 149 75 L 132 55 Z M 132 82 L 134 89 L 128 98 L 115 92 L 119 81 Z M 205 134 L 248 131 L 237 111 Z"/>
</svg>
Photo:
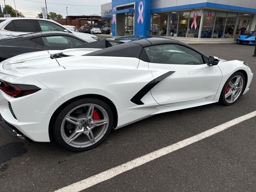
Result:
<svg viewBox="0 0 256 192">
<path fill-rule="evenodd" d="M 111 108 L 102 100 L 83 98 L 64 107 L 54 123 L 58 144 L 72 151 L 84 151 L 100 144 L 113 125 Z"/>
</svg>

